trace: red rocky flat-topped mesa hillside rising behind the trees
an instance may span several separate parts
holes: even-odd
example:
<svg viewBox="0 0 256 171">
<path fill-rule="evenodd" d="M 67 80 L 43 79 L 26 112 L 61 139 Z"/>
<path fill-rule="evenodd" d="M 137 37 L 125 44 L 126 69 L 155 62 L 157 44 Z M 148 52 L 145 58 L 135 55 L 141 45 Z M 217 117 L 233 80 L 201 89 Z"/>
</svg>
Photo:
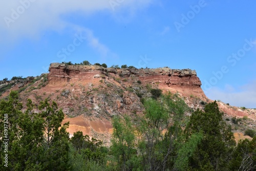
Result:
<svg viewBox="0 0 256 171">
<path fill-rule="evenodd" d="M 103 140 L 104 144 L 110 143 L 111 118 L 128 114 L 136 123 L 136 117 L 142 115 L 144 110 L 141 101 L 152 96 L 152 89 L 178 93 L 191 112 L 203 109 L 206 103 L 212 101 L 202 91 L 196 71 L 167 67 L 117 69 L 51 63 L 49 73 L 0 81 L 0 88 L 0 98 L 6 98 L 11 90 L 17 90 L 24 104 L 28 98 L 36 104 L 46 98 L 56 101 L 66 114 L 63 123 L 70 122 L 68 132 L 71 136 L 82 131 L 84 135 Z M 232 125 L 236 140 L 250 138 L 243 136 L 243 133 L 247 128 L 256 130 L 256 110 L 241 109 L 221 101 L 218 104 L 224 112 L 223 119 Z M 237 123 L 232 122 L 234 117 Z"/>
</svg>

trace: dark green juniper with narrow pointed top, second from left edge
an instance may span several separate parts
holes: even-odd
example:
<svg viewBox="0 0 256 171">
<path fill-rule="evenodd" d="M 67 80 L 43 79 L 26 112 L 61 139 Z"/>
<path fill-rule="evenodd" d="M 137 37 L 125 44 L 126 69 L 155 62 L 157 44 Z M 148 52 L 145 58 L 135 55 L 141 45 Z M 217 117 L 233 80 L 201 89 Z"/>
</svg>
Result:
<svg viewBox="0 0 256 171">
<path fill-rule="evenodd" d="M 15 154 L 16 170 L 40 170 L 40 157 L 44 148 L 44 119 L 38 113 L 33 113 L 34 104 L 31 99 L 27 100 L 27 110 L 19 115 L 17 141 L 12 147 Z"/>
</svg>

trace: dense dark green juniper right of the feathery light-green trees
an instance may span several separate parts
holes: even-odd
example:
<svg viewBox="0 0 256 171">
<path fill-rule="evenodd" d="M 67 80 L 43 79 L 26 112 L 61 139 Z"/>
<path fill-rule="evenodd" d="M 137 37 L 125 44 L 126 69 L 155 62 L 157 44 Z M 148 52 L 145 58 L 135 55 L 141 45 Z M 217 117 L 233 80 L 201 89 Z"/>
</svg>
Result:
<svg viewBox="0 0 256 171">
<path fill-rule="evenodd" d="M 203 139 L 189 159 L 190 170 L 226 170 L 232 147 L 236 144 L 231 127 L 222 120 L 217 102 L 206 104 L 204 112 L 197 110 L 188 122 L 185 132 L 191 137 L 198 132 Z"/>
</svg>

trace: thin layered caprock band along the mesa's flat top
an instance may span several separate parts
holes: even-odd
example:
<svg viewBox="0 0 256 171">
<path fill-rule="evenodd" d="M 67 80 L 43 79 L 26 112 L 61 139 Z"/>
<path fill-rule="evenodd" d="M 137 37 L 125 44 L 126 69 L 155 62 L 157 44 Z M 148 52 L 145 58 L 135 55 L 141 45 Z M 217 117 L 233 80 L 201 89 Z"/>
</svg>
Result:
<svg viewBox="0 0 256 171">
<path fill-rule="evenodd" d="M 103 68 L 101 66 L 82 66 L 82 65 L 66 65 L 65 63 L 51 63 L 49 68 L 48 80 L 64 78 L 69 80 L 71 77 L 97 77 L 100 74 L 113 73 L 119 74 L 122 77 L 130 77 L 131 75 L 139 77 L 142 81 L 153 81 L 164 83 L 167 86 L 201 86 L 201 81 L 197 77 L 195 70 L 190 69 L 170 69 L 170 68 L 157 68 L 157 69 L 116 69 L 116 68 Z"/>
</svg>

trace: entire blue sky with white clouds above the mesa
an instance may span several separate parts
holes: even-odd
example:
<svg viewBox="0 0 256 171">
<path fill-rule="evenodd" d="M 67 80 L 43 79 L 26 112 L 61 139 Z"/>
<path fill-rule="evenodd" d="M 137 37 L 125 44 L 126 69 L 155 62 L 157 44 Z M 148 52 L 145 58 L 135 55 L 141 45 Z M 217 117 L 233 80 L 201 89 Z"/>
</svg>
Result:
<svg viewBox="0 0 256 171">
<path fill-rule="evenodd" d="M 0 2 L 0 79 L 72 61 L 196 70 L 213 100 L 256 108 L 256 2 Z"/>
</svg>

